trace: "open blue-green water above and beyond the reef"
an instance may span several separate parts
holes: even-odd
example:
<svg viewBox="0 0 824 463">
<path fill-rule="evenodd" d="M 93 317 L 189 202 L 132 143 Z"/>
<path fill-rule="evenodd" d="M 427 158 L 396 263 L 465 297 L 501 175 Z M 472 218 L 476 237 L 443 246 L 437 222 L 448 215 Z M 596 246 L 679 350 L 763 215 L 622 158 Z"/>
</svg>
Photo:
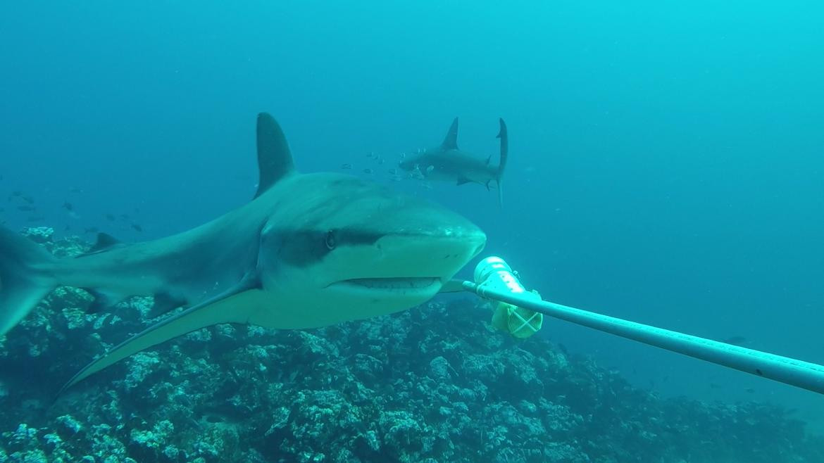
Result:
<svg viewBox="0 0 824 463">
<path fill-rule="evenodd" d="M 471 217 L 485 254 L 550 300 L 824 362 L 822 13 L 3 3 L 0 198 L 20 190 L 37 211 L 2 199 L 2 219 L 125 240 L 193 227 L 254 193 L 261 110 L 302 171 L 350 163 L 386 182 L 367 153 L 436 145 L 460 116 L 459 145 L 485 157 L 503 117 L 503 209 L 479 185 L 393 186 Z M 665 395 L 770 400 L 812 423 L 824 413 L 812 393 L 605 334 L 560 322 L 542 334 Z"/>
</svg>

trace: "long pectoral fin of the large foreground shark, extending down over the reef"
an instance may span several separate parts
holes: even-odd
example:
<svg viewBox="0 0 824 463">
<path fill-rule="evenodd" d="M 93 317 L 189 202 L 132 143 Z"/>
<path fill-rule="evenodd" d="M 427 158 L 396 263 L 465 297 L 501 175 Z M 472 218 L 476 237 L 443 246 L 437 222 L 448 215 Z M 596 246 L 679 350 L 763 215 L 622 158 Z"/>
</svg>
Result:
<svg viewBox="0 0 824 463">
<path fill-rule="evenodd" d="M 100 372 L 105 367 L 169 339 L 174 339 L 206 326 L 221 323 L 247 323 L 250 316 L 259 308 L 258 302 L 263 299 L 262 293 L 263 290 L 256 288 L 237 292 L 230 296 L 226 296 L 224 293 L 148 327 L 77 372 L 60 389 L 58 395 L 63 394 L 63 391 L 88 376 Z"/>
</svg>

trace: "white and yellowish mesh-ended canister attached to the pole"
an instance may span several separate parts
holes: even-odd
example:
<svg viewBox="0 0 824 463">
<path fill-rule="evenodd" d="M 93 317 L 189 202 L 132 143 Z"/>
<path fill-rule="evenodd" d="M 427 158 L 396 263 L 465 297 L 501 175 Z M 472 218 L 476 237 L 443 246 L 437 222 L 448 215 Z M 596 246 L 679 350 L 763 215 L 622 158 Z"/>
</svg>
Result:
<svg viewBox="0 0 824 463">
<path fill-rule="evenodd" d="M 500 257 L 487 257 L 475 266 L 475 283 L 477 294 L 486 297 L 485 289 L 511 292 L 521 297 L 541 300 L 536 291 L 527 291 L 517 278 L 513 269 Z M 528 338 L 541 330 L 544 316 L 536 311 L 514 306 L 506 302 L 493 300 L 492 325 L 498 330 L 506 331 L 516 338 Z"/>
</svg>

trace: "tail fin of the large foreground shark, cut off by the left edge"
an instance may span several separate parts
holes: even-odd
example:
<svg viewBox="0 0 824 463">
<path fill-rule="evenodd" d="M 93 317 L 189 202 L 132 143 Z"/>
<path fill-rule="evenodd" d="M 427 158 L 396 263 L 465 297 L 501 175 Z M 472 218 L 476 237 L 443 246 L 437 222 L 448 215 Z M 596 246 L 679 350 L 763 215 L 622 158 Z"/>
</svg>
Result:
<svg viewBox="0 0 824 463">
<path fill-rule="evenodd" d="M 56 260 L 34 241 L 0 227 L 0 336 L 57 286 L 48 271 Z"/>
</svg>

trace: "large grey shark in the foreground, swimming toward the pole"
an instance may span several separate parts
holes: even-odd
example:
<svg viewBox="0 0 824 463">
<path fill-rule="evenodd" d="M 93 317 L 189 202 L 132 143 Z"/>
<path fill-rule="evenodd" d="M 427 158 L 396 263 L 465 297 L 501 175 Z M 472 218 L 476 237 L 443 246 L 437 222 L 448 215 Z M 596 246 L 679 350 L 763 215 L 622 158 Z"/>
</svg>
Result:
<svg viewBox="0 0 824 463">
<path fill-rule="evenodd" d="M 298 174 L 269 115 L 258 116 L 257 146 L 255 199 L 188 232 L 132 245 L 103 236 L 87 255 L 58 260 L 2 230 L 0 334 L 60 284 L 188 307 L 91 362 L 65 389 L 208 325 L 314 328 L 408 309 L 485 245 L 478 227 L 433 203 L 349 175 Z"/>
</svg>

